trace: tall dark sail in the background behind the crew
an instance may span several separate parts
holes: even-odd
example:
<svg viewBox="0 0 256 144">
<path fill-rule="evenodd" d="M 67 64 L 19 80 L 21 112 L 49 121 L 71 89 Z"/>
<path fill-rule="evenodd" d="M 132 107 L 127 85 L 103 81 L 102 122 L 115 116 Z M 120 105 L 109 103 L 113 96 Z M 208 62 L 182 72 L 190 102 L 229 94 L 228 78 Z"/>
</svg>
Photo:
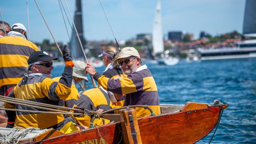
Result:
<svg viewBox="0 0 256 144">
<path fill-rule="evenodd" d="M 74 15 L 74 24 L 76 26 L 76 29 L 78 31 L 79 38 L 82 42 L 82 46 L 85 46 L 85 39 L 83 38 L 83 22 L 82 22 L 82 6 L 81 6 L 81 0 L 76 0 L 76 12 Z M 74 27 L 73 29 L 74 30 Z M 77 58 L 83 57 L 83 52 L 81 51 L 81 46 L 78 40 L 77 35 L 73 35 L 75 31 L 72 31 L 71 35 L 71 44 L 74 51 L 74 55 L 76 55 Z"/>
</svg>

